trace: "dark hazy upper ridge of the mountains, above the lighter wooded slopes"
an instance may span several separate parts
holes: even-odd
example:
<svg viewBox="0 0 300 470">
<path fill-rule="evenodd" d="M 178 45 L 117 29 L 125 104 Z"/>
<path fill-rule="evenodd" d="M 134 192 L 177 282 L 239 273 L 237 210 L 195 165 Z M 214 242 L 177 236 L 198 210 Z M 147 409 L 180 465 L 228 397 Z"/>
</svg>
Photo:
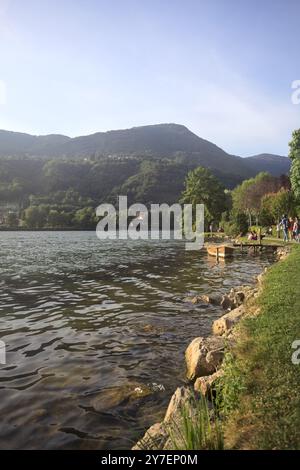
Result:
<svg viewBox="0 0 300 470">
<path fill-rule="evenodd" d="M 0 158 L 9 156 L 72 160 L 150 158 L 185 161 L 188 166 L 211 168 L 228 187 L 233 187 L 260 171 L 278 175 L 289 170 L 289 160 L 286 157 L 262 154 L 241 158 L 229 155 L 178 124 L 133 127 L 75 138 L 56 134 L 32 136 L 2 130 Z"/>
</svg>

